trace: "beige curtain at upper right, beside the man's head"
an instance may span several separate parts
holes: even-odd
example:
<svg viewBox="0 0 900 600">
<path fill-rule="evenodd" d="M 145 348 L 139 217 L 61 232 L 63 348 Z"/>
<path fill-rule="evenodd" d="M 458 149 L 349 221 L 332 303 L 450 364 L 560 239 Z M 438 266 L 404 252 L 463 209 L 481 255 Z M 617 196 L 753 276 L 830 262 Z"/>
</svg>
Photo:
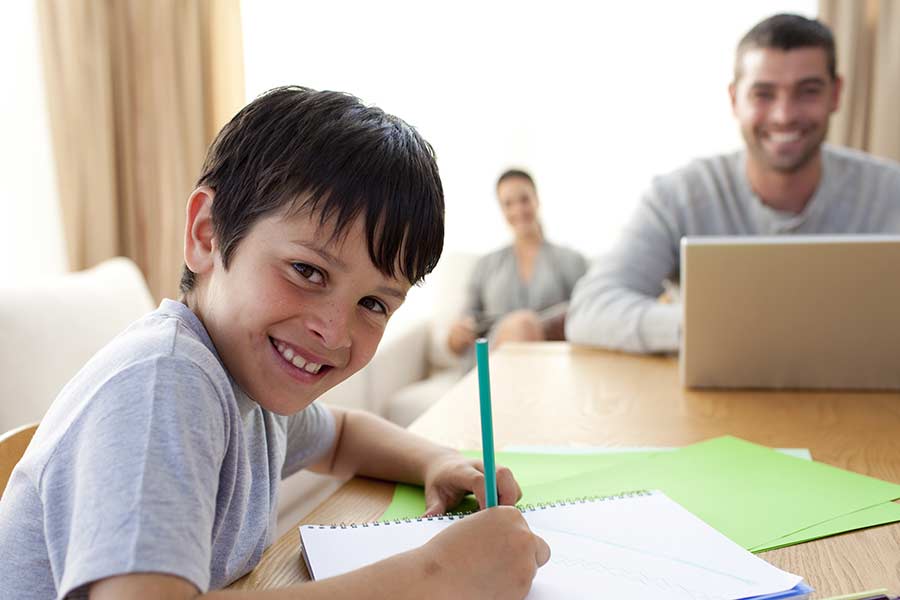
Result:
<svg viewBox="0 0 900 600">
<path fill-rule="evenodd" d="M 844 76 L 828 140 L 900 161 L 900 0 L 819 0 L 819 18 Z"/>
</svg>

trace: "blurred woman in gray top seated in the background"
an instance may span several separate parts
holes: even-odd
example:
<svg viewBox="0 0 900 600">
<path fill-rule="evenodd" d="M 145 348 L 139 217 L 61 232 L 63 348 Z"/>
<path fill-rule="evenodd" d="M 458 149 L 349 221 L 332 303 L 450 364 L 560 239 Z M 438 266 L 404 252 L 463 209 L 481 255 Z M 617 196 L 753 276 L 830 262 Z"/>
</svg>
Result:
<svg viewBox="0 0 900 600">
<path fill-rule="evenodd" d="M 457 355 L 483 335 L 493 345 L 563 339 L 569 296 L 587 269 L 581 254 L 544 238 L 531 175 L 516 169 L 503 173 L 497 199 L 513 242 L 482 257 L 472 272 L 465 312 L 447 339 Z"/>
</svg>

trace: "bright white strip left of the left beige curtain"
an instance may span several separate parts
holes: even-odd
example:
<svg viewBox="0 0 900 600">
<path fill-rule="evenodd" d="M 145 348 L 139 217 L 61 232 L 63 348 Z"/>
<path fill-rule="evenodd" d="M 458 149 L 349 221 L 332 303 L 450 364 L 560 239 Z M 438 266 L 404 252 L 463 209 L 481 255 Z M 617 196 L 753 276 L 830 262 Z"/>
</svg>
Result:
<svg viewBox="0 0 900 600">
<path fill-rule="evenodd" d="M 0 20 L 0 287 L 67 269 L 35 4 Z"/>
</svg>

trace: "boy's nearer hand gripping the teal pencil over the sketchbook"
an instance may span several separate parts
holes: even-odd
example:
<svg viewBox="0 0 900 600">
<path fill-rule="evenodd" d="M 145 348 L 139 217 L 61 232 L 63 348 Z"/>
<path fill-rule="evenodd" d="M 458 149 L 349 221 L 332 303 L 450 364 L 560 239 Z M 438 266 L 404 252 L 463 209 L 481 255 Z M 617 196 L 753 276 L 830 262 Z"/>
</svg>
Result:
<svg viewBox="0 0 900 600">
<path fill-rule="evenodd" d="M 429 586 L 432 598 L 521 600 L 531 589 L 538 567 L 550 559 L 550 547 L 533 534 L 522 514 L 498 506 L 454 523 L 416 550 L 423 572 L 442 577 Z"/>
</svg>

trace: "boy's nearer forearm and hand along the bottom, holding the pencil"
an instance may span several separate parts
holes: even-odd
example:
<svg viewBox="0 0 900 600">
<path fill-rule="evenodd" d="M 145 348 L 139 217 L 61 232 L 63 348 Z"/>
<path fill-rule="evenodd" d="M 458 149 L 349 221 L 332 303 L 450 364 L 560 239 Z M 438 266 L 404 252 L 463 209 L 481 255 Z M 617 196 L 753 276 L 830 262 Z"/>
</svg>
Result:
<svg viewBox="0 0 900 600">
<path fill-rule="evenodd" d="M 94 583 L 90 600 L 519 600 L 549 558 L 550 548 L 531 533 L 518 510 L 497 507 L 454 523 L 421 548 L 322 581 L 275 590 L 200 594 L 179 577 L 131 574 Z"/>
</svg>

